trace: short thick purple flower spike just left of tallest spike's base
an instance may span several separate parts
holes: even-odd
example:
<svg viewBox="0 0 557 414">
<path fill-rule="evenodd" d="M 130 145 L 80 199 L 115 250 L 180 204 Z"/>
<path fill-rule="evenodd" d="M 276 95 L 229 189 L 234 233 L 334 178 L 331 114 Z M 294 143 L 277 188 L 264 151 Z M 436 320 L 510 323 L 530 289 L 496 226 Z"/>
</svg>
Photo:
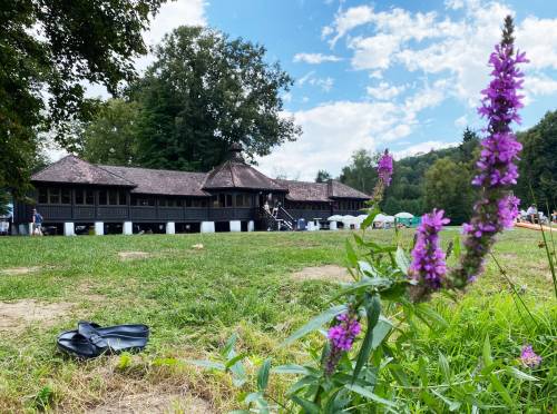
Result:
<svg viewBox="0 0 557 414">
<path fill-rule="evenodd" d="M 439 245 L 439 231 L 443 225 L 449 223 L 443 214 L 443 210 L 433 209 L 432 213 L 426 214 L 421 218 L 418 238 L 412 250 L 412 263 L 409 268 L 410 277 L 433 290 L 441 287 L 447 273 L 444 252 Z"/>
</svg>

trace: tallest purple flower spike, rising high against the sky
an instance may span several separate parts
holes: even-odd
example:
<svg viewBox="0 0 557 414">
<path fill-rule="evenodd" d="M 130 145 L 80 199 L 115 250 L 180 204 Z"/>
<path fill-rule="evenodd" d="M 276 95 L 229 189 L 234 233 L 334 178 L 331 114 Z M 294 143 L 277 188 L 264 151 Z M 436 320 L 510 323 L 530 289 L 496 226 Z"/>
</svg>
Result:
<svg viewBox="0 0 557 414">
<path fill-rule="evenodd" d="M 510 32 L 512 28 L 510 26 Z M 521 145 L 510 129 L 511 122 L 520 122 L 518 109 L 522 107 L 522 72 L 518 65 L 527 62 L 525 53 L 514 52 L 512 37 L 504 36 L 489 58 L 494 68 L 489 87 L 481 91 L 482 103 L 478 112 L 488 119 L 487 136 L 481 141 L 477 162 L 478 174 L 472 184 L 480 187 L 480 198 L 473 206 L 469 224 L 463 226 L 465 254 L 459 266 L 451 272 L 455 287 L 463 288 L 482 272 L 483 258 L 495 243 L 495 236 L 512 225 L 518 214 L 518 198 L 509 194 L 518 178 L 515 161 Z"/>
</svg>

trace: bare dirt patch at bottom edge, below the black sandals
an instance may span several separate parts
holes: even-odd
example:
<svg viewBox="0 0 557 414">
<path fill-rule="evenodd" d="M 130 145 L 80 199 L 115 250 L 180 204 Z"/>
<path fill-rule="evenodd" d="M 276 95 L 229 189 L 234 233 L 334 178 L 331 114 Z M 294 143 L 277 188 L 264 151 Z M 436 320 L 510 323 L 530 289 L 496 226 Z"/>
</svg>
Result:
<svg viewBox="0 0 557 414">
<path fill-rule="evenodd" d="M 202 398 L 192 395 L 169 393 L 168 391 L 146 392 L 133 395 L 121 395 L 109 404 L 100 405 L 89 414 L 166 414 L 213 413 L 211 405 Z"/>
</svg>

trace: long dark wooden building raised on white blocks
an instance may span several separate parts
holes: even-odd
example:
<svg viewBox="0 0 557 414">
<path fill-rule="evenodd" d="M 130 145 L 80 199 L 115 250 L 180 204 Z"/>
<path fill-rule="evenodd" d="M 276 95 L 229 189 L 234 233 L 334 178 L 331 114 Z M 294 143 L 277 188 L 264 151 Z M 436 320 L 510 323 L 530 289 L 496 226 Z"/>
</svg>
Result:
<svg viewBox="0 0 557 414">
<path fill-rule="evenodd" d="M 94 226 L 96 234 L 211 233 L 292 229 L 300 218 L 326 224 L 331 215 L 360 214 L 369 199 L 335 180 L 271 179 L 244 161 L 238 145 L 209 172 L 92 165 L 67 156 L 35 174 L 31 183 L 35 204 L 19 203 L 14 208 L 22 234 L 28 231 L 32 208 L 42 215 L 45 226 L 66 235 L 75 234 L 76 226 Z"/>
</svg>

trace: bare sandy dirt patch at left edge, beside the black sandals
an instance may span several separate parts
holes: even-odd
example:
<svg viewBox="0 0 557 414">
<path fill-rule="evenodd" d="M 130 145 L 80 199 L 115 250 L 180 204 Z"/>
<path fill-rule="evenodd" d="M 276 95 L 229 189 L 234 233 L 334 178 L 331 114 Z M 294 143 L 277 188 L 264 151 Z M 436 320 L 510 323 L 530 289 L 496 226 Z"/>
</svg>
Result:
<svg viewBox="0 0 557 414">
<path fill-rule="evenodd" d="M 66 316 L 74 304 L 41 303 L 38 300 L 0 302 L 0 332 L 19 332 L 27 325 L 40 322 L 43 326 L 53 325 L 56 319 Z"/>
</svg>

